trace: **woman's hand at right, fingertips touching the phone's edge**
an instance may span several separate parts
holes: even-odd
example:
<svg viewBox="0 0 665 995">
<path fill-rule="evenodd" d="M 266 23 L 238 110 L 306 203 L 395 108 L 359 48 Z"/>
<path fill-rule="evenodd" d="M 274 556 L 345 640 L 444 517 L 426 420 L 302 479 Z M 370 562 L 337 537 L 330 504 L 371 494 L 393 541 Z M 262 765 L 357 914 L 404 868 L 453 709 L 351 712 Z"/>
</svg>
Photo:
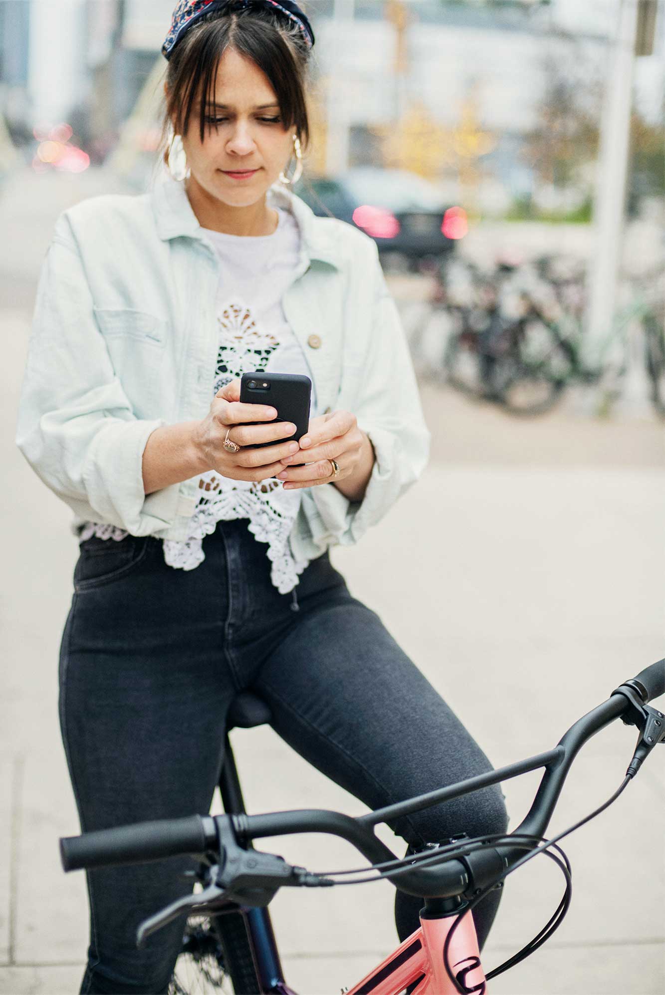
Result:
<svg viewBox="0 0 665 995">
<path fill-rule="evenodd" d="M 304 467 L 291 464 L 303 463 Z M 334 480 L 334 460 L 340 474 Z M 300 440 L 300 452 L 282 459 L 287 469 L 275 476 L 285 491 L 334 484 L 349 500 L 362 500 L 374 466 L 374 450 L 368 436 L 358 428 L 350 411 L 333 411 L 312 418 L 307 435 Z"/>
</svg>

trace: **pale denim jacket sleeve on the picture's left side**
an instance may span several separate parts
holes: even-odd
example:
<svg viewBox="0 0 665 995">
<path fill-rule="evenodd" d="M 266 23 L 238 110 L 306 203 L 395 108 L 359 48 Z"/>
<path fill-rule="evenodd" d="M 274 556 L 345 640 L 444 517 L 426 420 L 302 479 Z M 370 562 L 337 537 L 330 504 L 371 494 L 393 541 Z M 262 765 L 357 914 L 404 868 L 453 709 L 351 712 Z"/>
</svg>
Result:
<svg viewBox="0 0 665 995">
<path fill-rule="evenodd" d="M 164 419 L 137 419 L 95 322 L 67 212 L 58 219 L 37 292 L 16 444 L 58 497 L 134 535 L 170 524 L 178 486 L 143 491 L 142 456 Z"/>
</svg>

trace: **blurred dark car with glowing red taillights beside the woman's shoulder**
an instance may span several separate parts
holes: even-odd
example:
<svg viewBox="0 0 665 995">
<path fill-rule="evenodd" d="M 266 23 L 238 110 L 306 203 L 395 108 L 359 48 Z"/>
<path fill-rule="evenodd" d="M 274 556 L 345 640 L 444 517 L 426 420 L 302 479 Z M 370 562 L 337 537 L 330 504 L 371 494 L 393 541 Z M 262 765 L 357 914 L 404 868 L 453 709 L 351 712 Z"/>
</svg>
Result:
<svg viewBox="0 0 665 995">
<path fill-rule="evenodd" d="M 300 180 L 294 192 L 314 214 L 360 228 L 381 253 L 412 260 L 449 252 L 468 230 L 466 212 L 446 205 L 433 184 L 404 169 L 362 166 L 335 178 Z"/>
</svg>

